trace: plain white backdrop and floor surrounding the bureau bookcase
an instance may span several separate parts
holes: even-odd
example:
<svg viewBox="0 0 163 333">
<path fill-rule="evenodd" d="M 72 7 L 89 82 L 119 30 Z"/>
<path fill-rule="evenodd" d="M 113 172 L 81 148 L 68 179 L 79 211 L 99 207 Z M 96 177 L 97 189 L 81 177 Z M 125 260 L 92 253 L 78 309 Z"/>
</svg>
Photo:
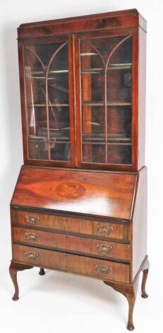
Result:
<svg viewBox="0 0 163 333">
<path fill-rule="evenodd" d="M 20 23 L 136 8 L 147 19 L 146 165 L 148 166 L 147 300 L 135 303 L 135 332 L 162 331 L 162 0 L 1 0 L 0 2 L 0 306 L 1 332 L 126 332 L 127 302 L 100 281 L 38 269 L 18 273 L 20 300 L 11 300 L 9 203 L 23 147 L 17 30 Z"/>
</svg>

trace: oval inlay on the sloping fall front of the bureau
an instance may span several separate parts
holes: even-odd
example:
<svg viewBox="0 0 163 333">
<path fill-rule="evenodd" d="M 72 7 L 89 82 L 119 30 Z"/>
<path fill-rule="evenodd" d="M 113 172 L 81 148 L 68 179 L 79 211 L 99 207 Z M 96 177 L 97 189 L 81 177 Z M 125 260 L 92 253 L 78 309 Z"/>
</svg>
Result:
<svg viewBox="0 0 163 333">
<path fill-rule="evenodd" d="M 80 198 L 85 194 L 85 187 L 73 181 L 66 181 L 56 186 L 56 193 L 68 199 Z"/>
</svg>

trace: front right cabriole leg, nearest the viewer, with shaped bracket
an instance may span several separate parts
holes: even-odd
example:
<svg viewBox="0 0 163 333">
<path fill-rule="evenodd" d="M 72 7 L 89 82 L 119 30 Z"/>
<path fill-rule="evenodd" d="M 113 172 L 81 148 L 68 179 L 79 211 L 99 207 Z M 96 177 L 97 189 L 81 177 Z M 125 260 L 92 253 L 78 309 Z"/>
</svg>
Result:
<svg viewBox="0 0 163 333">
<path fill-rule="evenodd" d="M 122 293 L 128 300 L 127 329 L 129 331 L 133 331 L 133 329 L 135 328 L 133 325 L 133 309 L 135 305 L 136 293 L 138 290 L 138 279 L 135 281 L 133 286 L 124 286 L 120 283 L 112 283 L 107 281 L 104 281 L 104 283 L 107 284 L 107 286 L 111 286 L 112 288 L 114 288 L 114 290 L 118 291 L 119 293 Z"/>
</svg>

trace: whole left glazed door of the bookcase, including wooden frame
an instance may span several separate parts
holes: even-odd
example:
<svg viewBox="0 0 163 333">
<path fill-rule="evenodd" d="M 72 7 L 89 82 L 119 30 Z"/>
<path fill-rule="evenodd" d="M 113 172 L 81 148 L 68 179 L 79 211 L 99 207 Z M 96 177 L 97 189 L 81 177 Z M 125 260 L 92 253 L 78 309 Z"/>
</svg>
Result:
<svg viewBox="0 0 163 333">
<path fill-rule="evenodd" d="M 71 52 L 68 36 L 26 40 L 23 45 L 19 42 L 20 77 L 24 80 L 24 155 L 28 164 L 74 165 Z"/>
</svg>

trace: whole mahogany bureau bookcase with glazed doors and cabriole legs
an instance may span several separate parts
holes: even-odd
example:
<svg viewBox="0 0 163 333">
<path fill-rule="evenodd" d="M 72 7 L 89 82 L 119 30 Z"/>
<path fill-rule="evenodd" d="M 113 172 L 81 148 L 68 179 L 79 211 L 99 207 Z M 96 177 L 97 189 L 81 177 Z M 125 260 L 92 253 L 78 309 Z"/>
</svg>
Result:
<svg viewBox="0 0 163 333">
<path fill-rule="evenodd" d="M 136 9 L 18 28 L 24 165 L 11 278 L 40 267 L 147 298 L 146 22 Z"/>
</svg>

